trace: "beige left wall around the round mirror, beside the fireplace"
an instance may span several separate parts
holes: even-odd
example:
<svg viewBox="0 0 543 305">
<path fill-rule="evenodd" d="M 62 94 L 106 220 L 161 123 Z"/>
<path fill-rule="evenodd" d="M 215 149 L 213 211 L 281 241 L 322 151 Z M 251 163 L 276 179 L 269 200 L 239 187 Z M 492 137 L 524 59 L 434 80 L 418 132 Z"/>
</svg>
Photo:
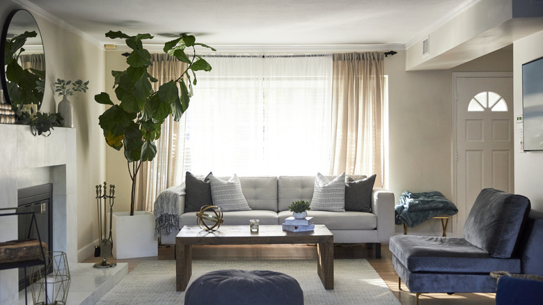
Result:
<svg viewBox="0 0 543 305">
<path fill-rule="evenodd" d="M 16 8 L 22 7 L 11 1 L 1 1 L 2 24 L 10 11 Z M 79 98 L 70 97 L 77 134 L 77 215 L 68 217 L 77 217 L 77 232 L 72 234 L 77 236 L 78 260 L 81 261 L 93 253 L 98 238 L 94 186 L 103 182 L 105 177 L 105 150 L 97 124 L 103 107 L 93 98 L 104 90 L 104 51 L 99 45 L 74 35 L 47 17 L 31 13 L 40 28 L 45 49 L 47 79 L 41 110 L 56 111 L 56 104 L 61 100 L 54 96 L 57 78 L 90 81 L 86 94 L 78 93 Z"/>
</svg>

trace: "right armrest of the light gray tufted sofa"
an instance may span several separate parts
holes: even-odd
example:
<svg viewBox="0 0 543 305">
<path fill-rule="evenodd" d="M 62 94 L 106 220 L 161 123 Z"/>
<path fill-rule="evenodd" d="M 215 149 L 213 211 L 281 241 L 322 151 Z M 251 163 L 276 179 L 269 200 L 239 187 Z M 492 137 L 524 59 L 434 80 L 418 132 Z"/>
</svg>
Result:
<svg viewBox="0 0 543 305">
<path fill-rule="evenodd" d="M 394 234 L 394 193 L 374 187 L 372 213 L 377 216 L 377 242 L 388 242 Z"/>
</svg>

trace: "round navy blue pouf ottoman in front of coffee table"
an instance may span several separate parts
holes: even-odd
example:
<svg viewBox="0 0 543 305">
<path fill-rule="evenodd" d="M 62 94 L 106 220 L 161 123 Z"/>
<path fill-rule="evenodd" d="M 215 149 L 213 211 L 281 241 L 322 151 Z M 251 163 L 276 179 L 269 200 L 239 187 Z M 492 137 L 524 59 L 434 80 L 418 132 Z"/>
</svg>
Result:
<svg viewBox="0 0 543 305">
<path fill-rule="evenodd" d="M 292 276 L 262 270 L 217 270 L 195 279 L 184 293 L 185 305 L 300 305 L 304 292 Z"/>
</svg>

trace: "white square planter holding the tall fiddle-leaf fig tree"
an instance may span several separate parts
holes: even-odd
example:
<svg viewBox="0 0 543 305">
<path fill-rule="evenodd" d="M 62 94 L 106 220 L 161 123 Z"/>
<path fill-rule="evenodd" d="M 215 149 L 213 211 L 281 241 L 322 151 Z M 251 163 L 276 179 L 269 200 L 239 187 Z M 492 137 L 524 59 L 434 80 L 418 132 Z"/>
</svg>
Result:
<svg viewBox="0 0 543 305">
<path fill-rule="evenodd" d="M 155 215 L 151 212 L 113 212 L 111 220 L 113 257 L 143 258 L 158 256 L 158 240 L 155 240 Z"/>
</svg>

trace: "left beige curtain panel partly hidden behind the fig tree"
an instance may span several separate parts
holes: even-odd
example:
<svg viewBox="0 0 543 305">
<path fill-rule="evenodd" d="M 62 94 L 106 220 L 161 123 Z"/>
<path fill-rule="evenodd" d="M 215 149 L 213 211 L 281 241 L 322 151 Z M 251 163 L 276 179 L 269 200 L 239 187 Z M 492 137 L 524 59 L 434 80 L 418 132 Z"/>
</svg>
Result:
<svg viewBox="0 0 543 305">
<path fill-rule="evenodd" d="M 177 58 L 168 54 L 151 54 L 152 65 L 148 72 L 158 79 L 152 83 L 153 89 L 158 90 L 159 86 L 177 79 L 181 73 L 188 68 L 187 63 L 178 61 Z M 151 162 L 143 162 L 136 180 L 136 206 L 135 210 L 146 210 L 152 212 L 153 203 L 158 195 L 172 187 L 175 183 L 176 158 L 182 158 L 182 143 L 184 139 L 179 139 L 179 125 L 184 124 L 184 120 L 175 122 L 172 116 L 169 116 L 162 124 L 162 134 L 156 141 L 157 155 Z M 182 134 L 180 134 L 182 136 Z M 181 168 L 182 169 L 182 168 Z"/>
</svg>

